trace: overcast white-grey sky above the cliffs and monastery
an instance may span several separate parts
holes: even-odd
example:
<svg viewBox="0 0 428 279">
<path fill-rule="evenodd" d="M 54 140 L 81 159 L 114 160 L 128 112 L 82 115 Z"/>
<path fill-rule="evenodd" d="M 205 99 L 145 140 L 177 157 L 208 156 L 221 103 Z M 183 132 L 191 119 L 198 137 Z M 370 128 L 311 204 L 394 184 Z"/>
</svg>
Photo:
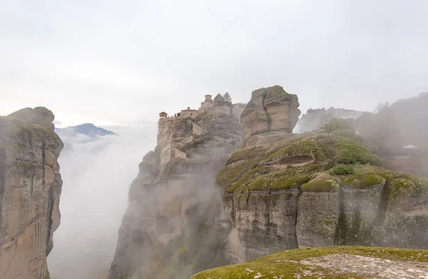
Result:
<svg viewBox="0 0 428 279">
<path fill-rule="evenodd" d="M 271 85 L 303 112 L 372 111 L 428 90 L 427 15 L 426 0 L 0 0 L 0 115 L 155 122 Z"/>
</svg>

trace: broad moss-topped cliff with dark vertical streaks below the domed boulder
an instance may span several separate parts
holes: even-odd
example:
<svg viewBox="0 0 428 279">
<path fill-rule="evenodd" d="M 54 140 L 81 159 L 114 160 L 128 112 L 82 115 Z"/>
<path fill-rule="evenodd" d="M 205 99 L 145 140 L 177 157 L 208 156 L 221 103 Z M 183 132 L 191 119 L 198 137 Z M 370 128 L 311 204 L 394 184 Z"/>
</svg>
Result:
<svg viewBox="0 0 428 279">
<path fill-rule="evenodd" d="M 314 246 L 428 248 L 428 181 L 377 167 L 347 122 L 300 135 L 271 132 L 271 117 L 253 125 L 261 96 L 253 93 L 251 113 L 241 115 L 247 146 L 218 175 L 233 224 L 229 253 L 248 260 Z"/>
</svg>

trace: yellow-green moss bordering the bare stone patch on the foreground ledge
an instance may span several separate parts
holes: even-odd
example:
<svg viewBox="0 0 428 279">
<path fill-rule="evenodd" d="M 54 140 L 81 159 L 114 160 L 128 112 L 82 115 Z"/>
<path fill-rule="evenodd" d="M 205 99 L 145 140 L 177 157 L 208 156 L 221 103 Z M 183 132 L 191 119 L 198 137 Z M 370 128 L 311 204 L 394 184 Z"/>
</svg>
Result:
<svg viewBox="0 0 428 279">
<path fill-rule="evenodd" d="M 193 275 L 190 279 L 253 279 L 257 273 L 261 278 L 365 278 L 355 273 L 338 273 L 336 269 L 321 268 L 316 265 L 303 265 L 300 260 L 317 258 L 332 254 L 350 254 L 385 260 L 428 262 L 428 251 L 379 248 L 361 246 L 330 246 L 320 248 L 301 248 L 290 251 L 281 251 L 268 256 L 250 260 L 246 263 L 213 268 Z M 248 270 L 253 270 L 249 272 Z M 317 274 L 318 273 L 318 274 Z M 322 276 L 320 276 L 322 274 Z"/>
</svg>

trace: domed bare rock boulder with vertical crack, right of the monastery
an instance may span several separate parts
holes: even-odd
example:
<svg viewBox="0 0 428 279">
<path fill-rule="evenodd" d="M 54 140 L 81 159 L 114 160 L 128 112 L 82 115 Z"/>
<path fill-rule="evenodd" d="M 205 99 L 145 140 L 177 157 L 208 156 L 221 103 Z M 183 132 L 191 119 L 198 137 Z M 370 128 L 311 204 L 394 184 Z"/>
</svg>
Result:
<svg viewBox="0 0 428 279">
<path fill-rule="evenodd" d="M 266 132 L 291 133 L 300 115 L 297 95 L 279 85 L 254 90 L 240 115 L 245 139 Z"/>
</svg>

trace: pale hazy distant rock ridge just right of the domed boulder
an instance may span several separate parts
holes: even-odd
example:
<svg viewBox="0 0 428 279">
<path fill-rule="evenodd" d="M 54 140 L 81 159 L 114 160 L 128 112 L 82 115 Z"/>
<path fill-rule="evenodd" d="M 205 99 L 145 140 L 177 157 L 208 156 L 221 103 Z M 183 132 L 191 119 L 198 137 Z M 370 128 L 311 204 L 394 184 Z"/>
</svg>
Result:
<svg viewBox="0 0 428 279">
<path fill-rule="evenodd" d="M 333 118 L 337 119 L 357 119 L 362 115 L 369 114 L 370 112 L 361 112 L 357 110 L 346 110 L 343 108 L 330 107 L 328 110 L 325 108 L 310 109 L 307 110 L 306 114 L 300 117 L 297 122 L 295 132 L 310 132 L 313 130 L 320 129 L 326 125 Z"/>
</svg>

